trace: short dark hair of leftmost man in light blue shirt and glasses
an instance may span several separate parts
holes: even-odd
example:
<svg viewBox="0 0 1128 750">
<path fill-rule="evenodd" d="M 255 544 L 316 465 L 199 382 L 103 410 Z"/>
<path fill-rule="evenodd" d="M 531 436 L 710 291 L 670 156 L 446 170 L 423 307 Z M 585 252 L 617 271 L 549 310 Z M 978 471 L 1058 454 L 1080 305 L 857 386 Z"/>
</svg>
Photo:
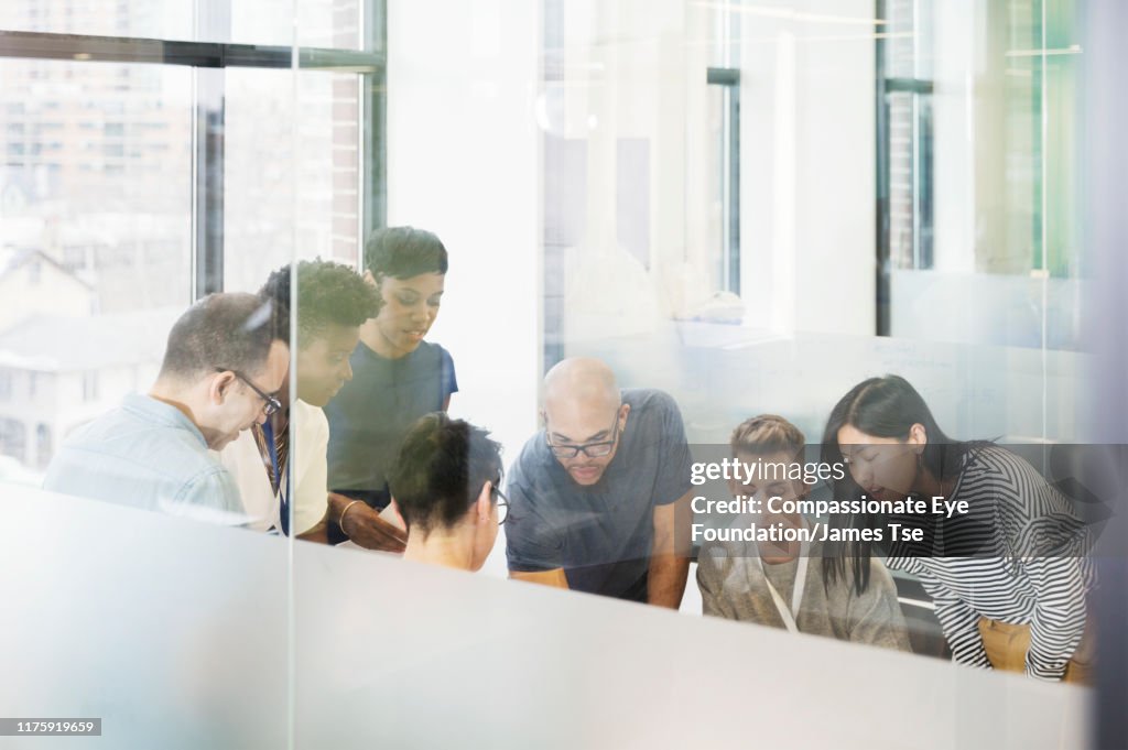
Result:
<svg viewBox="0 0 1128 750">
<path fill-rule="evenodd" d="M 285 333 L 262 298 L 246 292 L 209 294 L 173 324 L 160 377 L 186 380 L 215 368 L 254 376 L 265 367 L 277 339 L 285 341 Z"/>
</svg>

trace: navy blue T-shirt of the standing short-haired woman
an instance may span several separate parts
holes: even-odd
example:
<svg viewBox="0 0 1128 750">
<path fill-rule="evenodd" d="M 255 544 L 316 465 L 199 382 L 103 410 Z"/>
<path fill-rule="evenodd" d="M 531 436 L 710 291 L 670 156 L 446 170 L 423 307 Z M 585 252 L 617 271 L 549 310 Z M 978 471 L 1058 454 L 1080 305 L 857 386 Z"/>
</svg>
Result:
<svg viewBox="0 0 1128 750">
<path fill-rule="evenodd" d="M 442 411 L 458 390 L 455 361 L 438 344 L 423 342 L 406 356 L 389 360 L 363 342 L 350 358 L 353 379 L 325 407 L 329 420 L 329 487 L 360 491 L 387 504 L 388 473 L 399 443 L 424 414 Z"/>
</svg>

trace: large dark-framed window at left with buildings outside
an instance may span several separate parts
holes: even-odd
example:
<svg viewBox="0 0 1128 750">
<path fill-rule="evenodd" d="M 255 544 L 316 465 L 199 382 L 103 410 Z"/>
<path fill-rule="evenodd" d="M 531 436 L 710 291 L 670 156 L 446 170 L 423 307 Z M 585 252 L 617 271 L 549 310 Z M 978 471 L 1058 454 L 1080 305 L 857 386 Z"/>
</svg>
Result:
<svg viewBox="0 0 1128 750">
<path fill-rule="evenodd" d="M 0 310 L 0 351 L 58 359 L 55 332 L 83 344 L 45 426 L 136 387 L 105 352 L 149 380 L 194 298 L 257 290 L 296 254 L 355 263 L 385 215 L 381 0 L 310 0 L 297 19 L 273 0 L 73 10 L 0 3 L 0 193 L 19 198 L 0 223 L 43 256 L 24 277 L 41 301 Z"/>
</svg>

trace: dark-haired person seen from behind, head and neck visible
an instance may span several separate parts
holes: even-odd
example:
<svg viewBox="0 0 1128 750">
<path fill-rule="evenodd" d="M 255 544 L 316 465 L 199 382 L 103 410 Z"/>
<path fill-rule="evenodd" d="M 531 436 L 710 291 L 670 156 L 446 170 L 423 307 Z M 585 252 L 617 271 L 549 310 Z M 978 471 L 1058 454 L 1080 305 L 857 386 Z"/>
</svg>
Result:
<svg viewBox="0 0 1128 750">
<path fill-rule="evenodd" d="M 505 522 L 501 477 L 501 445 L 486 430 L 442 412 L 416 422 L 389 477 L 404 559 L 481 570 Z"/>
</svg>

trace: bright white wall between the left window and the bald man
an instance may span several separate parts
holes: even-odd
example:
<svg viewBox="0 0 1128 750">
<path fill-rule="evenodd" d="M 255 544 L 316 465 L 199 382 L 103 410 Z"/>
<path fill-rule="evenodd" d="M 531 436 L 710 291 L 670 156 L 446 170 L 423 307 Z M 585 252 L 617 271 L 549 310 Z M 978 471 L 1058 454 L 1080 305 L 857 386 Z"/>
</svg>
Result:
<svg viewBox="0 0 1128 750">
<path fill-rule="evenodd" d="M 450 252 L 430 339 L 455 358 L 451 413 L 491 429 L 508 461 L 536 430 L 540 377 L 538 5 L 388 3 L 388 222 Z"/>
</svg>

